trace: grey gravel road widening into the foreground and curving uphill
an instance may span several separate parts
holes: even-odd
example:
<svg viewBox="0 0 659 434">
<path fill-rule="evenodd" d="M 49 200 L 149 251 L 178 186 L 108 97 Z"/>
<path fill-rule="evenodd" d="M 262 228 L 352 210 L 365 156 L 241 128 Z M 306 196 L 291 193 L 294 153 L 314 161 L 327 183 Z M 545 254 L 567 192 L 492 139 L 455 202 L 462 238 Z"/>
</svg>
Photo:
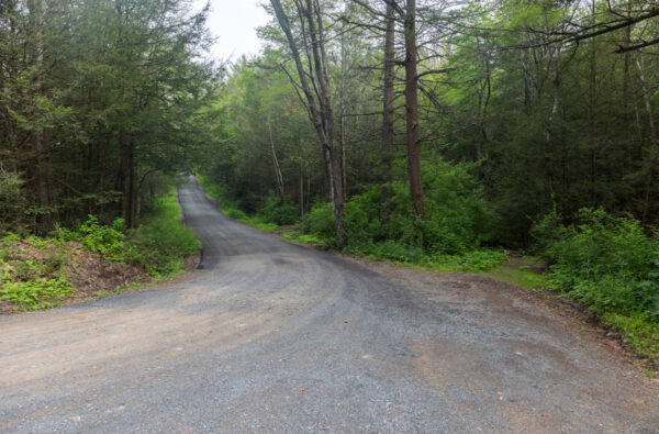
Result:
<svg viewBox="0 0 659 434">
<path fill-rule="evenodd" d="M 0 318 L 0 432 L 659 431 L 659 385 L 525 291 L 289 244 L 179 188 L 203 269 Z"/>
</svg>

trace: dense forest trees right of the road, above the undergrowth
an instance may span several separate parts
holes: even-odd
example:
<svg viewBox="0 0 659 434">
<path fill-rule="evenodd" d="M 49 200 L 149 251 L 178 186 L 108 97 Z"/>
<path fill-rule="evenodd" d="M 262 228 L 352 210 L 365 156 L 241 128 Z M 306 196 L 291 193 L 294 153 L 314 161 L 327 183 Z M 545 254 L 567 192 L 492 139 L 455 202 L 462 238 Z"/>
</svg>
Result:
<svg viewBox="0 0 659 434">
<path fill-rule="evenodd" d="M 445 215 L 437 189 L 482 198 L 480 240 L 510 246 L 554 210 L 656 223 L 657 53 L 637 48 L 657 35 L 652 4 L 399 3 L 282 2 L 292 38 L 273 20 L 264 54 L 233 66 L 214 176 L 244 209 L 276 194 L 308 212 L 376 185 L 386 200 L 402 182 L 410 218 Z"/>
</svg>

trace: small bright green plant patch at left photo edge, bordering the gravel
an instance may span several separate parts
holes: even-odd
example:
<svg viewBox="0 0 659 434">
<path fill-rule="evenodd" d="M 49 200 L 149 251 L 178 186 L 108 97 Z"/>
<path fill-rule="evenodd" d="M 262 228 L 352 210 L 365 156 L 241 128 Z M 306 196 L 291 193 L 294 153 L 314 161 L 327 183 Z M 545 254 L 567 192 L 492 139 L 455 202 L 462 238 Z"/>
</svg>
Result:
<svg viewBox="0 0 659 434">
<path fill-rule="evenodd" d="M 18 310 L 33 311 L 59 305 L 72 294 L 64 277 L 27 281 L 5 281 L 0 288 L 0 299 L 12 302 Z"/>
</svg>

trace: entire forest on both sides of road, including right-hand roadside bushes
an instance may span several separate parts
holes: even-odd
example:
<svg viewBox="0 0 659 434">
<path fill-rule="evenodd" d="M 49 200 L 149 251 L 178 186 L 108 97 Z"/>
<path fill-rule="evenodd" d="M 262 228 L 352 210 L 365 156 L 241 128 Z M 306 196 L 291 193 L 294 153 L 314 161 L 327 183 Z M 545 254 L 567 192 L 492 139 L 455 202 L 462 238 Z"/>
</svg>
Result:
<svg viewBox="0 0 659 434">
<path fill-rule="evenodd" d="M 129 233 L 194 173 L 298 242 L 436 269 L 533 255 L 659 359 L 656 2 L 271 0 L 233 63 L 209 59 L 210 7 L 0 1 L 2 233 Z"/>
</svg>

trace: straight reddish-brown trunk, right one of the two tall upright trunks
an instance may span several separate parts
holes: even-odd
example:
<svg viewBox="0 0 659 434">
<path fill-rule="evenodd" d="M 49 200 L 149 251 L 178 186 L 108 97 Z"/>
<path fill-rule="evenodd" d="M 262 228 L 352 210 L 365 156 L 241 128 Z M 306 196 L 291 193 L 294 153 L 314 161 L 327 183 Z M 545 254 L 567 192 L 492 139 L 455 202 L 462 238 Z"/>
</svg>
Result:
<svg viewBox="0 0 659 434">
<path fill-rule="evenodd" d="M 416 0 L 407 0 L 405 11 L 405 110 L 407 118 L 407 176 L 414 215 L 425 219 L 421 179 L 418 133 L 418 78 L 416 73 Z"/>
</svg>

